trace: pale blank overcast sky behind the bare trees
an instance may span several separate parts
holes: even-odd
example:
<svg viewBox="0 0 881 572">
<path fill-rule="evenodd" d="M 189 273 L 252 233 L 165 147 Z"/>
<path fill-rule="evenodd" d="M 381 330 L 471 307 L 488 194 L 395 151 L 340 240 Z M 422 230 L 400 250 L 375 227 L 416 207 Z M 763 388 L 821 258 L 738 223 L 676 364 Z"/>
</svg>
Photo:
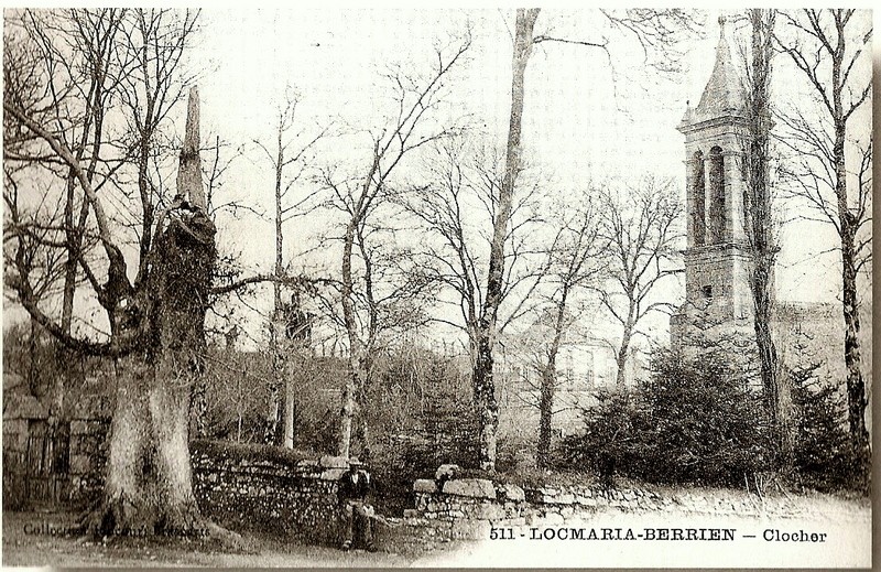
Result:
<svg viewBox="0 0 881 572">
<path fill-rule="evenodd" d="M 718 15 L 715 10 L 707 12 L 705 36 L 687 44 L 684 74 L 675 77 L 646 72 L 639 44 L 620 34 L 608 34 L 611 62 L 597 48 L 541 44 L 526 76 L 523 143 L 527 161 L 561 192 L 591 179 L 653 173 L 674 177 L 684 197 L 684 137 L 676 126 L 686 101 L 697 102 L 709 77 Z M 588 10 L 547 9 L 539 18 L 536 32 L 597 41 L 607 32 L 599 28 L 601 21 Z M 369 152 L 368 131 L 380 129 L 388 111 L 389 84 L 382 72 L 389 65 L 425 69 L 434 46 L 450 42 L 467 26 L 474 45 L 467 64 L 449 78 L 449 112 L 467 114 L 503 147 L 510 108 L 512 9 L 257 10 L 238 3 L 235 9 L 205 9 L 197 45 L 188 54 L 188 64 L 200 74 L 203 136 L 216 133 L 233 147 L 248 145 L 217 199 L 237 198 L 268 214 L 264 220 L 219 220 L 221 248 L 241 252 L 251 271 L 272 268 L 273 173 L 251 141 L 271 144 L 273 114 L 286 86 L 300 94 L 297 122 L 306 133 L 330 120 L 352 129 L 352 134 L 323 147 L 320 161 L 357 168 L 352 158 Z M 785 74 L 781 72 L 781 85 L 788 85 Z M 781 91 L 777 86 L 776 95 Z M 183 123 L 185 106 L 177 111 Z M 298 192 L 313 191 L 305 184 Z M 285 258 L 305 250 L 324 227 L 326 220 L 320 218 L 289 225 Z M 787 225 L 777 265 L 779 298 L 835 301 L 840 288 L 838 255 L 818 255 L 834 245 L 830 227 Z M 326 256 L 309 263 L 328 271 L 337 266 Z M 670 298 L 682 295 L 681 284 L 671 288 Z M 258 305 L 265 307 L 271 296 L 263 298 Z M 665 327 L 663 319 L 653 330 L 663 335 Z"/>
</svg>

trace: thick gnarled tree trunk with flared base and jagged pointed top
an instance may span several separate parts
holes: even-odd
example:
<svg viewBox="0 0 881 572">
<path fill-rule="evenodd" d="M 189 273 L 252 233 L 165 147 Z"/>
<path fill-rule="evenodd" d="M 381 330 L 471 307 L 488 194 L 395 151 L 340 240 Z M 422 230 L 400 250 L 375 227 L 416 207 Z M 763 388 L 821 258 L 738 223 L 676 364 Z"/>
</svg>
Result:
<svg viewBox="0 0 881 572">
<path fill-rule="evenodd" d="M 194 379 L 204 370 L 205 312 L 216 260 L 198 164 L 198 100 L 191 91 L 178 193 L 189 205 L 157 229 L 141 291 L 119 304 L 115 335 L 143 332 L 141 349 L 121 360 L 104 504 L 85 522 L 104 535 L 197 535 L 218 527 L 193 494 L 188 417 Z M 146 327 L 139 320 L 146 320 Z"/>
</svg>

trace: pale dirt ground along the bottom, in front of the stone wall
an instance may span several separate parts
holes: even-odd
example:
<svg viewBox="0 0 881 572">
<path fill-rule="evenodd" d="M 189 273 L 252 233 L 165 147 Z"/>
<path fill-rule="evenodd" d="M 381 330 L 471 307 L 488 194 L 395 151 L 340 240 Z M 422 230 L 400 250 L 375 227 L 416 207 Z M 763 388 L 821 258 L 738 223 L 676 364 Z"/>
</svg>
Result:
<svg viewBox="0 0 881 572">
<path fill-rule="evenodd" d="M 707 492 L 704 492 L 708 495 Z M 730 492 L 728 493 L 730 495 Z M 721 495 L 721 493 L 720 493 Z M 711 495 L 709 495 L 711 497 Z M 3 565 L 210 566 L 210 568 L 402 568 L 402 566 L 637 566 L 637 568 L 868 568 L 871 565 L 871 505 L 868 499 L 829 495 L 793 496 L 762 516 L 720 517 L 688 510 L 598 512 L 589 520 L 555 528 L 644 531 L 649 527 L 736 530 L 731 542 L 630 542 L 627 540 L 535 540 L 529 527 L 501 541 L 448 542 L 434 549 L 381 546 L 376 553 L 341 552 L 255 533 L 242 535 L 247 549 L 182 539 L 111 539 L 96 542 L 65 533 L 70 512 L 3 512 Z M 766 530 L 824 533 L 823 542 L 764 539 Z M 523 536 L 521 537 L 521 532 Z M 750 538 L 751 537 L 751 538 Z"/>
</svg>

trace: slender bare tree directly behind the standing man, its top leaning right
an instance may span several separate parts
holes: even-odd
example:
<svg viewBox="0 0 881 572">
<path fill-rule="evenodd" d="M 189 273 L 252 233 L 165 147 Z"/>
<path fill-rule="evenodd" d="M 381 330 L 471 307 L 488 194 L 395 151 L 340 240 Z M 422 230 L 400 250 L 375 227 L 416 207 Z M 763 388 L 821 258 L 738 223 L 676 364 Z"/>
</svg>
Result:
<svg viewBox="0 0 881 572">
<path fill-rule="evenodd" d="M 372 352 L 381 330 L 385 327 L 381 312 L 383 300 L 388 302 L 398 294 L 382 294 L 378 290 L 374 272 L 378 270 L 376 257 L 380 251 L 371 247 L 371 236 L 376 238 L 376 234 L 388 228 L 378 216 L 394 194 L 391 177 L 401 162 L 415 150 L 456 131 L 433 125 L 437 119 L 434 116 L 446 91 L 444 82 L 461 63 L 470 43 L 470 36 L 466 35 L 449 50 L 437 50 L 434 66 L 424 77 L 392 73 L 390 79 L 396 90 L 396 116 L 372 137 L 372 152 L 365 172 L 357 177 L 340 179 L 328 169 L 322 175 L 322 182 L 331 193 L 333 206 L 345 217 L 339 296 L 349 341 L 350 375 L 342 390 L 340 412 L 338 453 L 342 456 L 349 455 L 352 422 L 358 410 L 365 407 L 363 396 L 372 375 Z M 366 415 L 361 414 L 360 420 L 358 431 L 363 455 L 369 456 Z"/>
</svg>

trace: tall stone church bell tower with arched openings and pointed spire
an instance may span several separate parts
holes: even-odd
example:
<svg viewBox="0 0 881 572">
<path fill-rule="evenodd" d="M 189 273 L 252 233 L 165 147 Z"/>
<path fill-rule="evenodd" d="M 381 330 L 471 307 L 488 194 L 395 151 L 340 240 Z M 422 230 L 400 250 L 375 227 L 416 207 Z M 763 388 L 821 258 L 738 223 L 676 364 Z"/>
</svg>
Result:
<svg viewBox="0 0 881 572">
<path fill-rule="evenodd" d="M 677 130 L 685 136 L 687 246 L 685 303 L 671 317 L 674 347 L 695 324 L 751 326 L 750 248 L 743 223 L 747 94 L 731 62 L 725 30 L 700 102 Z"/>
</svg>

